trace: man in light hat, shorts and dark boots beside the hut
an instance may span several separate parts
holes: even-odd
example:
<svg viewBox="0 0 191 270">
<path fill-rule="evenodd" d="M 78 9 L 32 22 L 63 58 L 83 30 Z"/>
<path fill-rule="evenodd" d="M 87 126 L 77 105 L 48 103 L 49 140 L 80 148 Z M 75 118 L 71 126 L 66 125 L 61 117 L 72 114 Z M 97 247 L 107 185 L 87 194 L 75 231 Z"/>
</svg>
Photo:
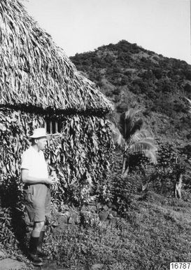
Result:
<svg viewBox="0 0 191 270">
<path fill-rule="evenodd" d="M 50 185 L 55 183 L 48 176 L 43 149 L 47 141 L 45 128 L 36 128 L 31 138 L 31 147 L 22 154 L 21 179 L 29 219 L 34 222 L 29 243 L 29 256 L 34 265 L 43 265 L 47 257 L 42 252 L 45 233 L 45 216 L 50 212 Z"/>
</svg>

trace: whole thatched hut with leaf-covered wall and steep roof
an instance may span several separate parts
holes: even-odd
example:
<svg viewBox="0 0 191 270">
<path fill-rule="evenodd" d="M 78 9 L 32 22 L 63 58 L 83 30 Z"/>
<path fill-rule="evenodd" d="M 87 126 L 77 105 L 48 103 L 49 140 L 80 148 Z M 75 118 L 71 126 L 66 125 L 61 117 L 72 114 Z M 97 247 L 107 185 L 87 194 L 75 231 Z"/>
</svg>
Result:
<svg viewBox="0 0 191 270">
<path fill-rule="evenodd" d="M 0 60 L 1 205 L 22 195 L 20 158 L 31 130 L 43 126 L 60 180 L 57 200 L 97 194 L 109 168 L 112 104 L 18 0 L 0 0 Z"/>
</svg>

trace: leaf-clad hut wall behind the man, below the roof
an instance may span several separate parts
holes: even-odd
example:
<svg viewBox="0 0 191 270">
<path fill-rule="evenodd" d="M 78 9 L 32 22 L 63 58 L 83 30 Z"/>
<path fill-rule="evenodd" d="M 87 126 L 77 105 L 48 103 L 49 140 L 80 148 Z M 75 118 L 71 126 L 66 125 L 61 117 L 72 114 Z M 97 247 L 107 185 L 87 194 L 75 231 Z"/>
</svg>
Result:
<svg viewBox="0 0 191 270">
<path fill-rule="evenodd" d="M 91 195 L 102 195 L 99 188 L 104 186 L 109 173 L 112 149 L 109 122 L 78 114 L 59 117 L 62 117 L 62 133 L 50 136 L 45 150 L 45 156 L 59 178 L 57 189 L 52 191 L 53 201 L 76 204 L 90 201 Z M 22 201 L 21 155 L 29 147 L 29 133 L 33 128 L 41 127 L 44 119 L 41 114 L 13 109 L 0 111 L 0 196 L 3 206 Z"/>
</svg>

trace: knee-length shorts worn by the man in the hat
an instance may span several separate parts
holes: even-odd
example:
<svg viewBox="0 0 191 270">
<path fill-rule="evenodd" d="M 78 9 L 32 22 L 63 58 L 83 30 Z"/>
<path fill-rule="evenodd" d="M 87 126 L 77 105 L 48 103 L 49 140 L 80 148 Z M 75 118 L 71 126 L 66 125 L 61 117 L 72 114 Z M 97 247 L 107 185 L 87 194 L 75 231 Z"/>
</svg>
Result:
<svg viewBox="0 0 191 270">
<path fill-rule="evenodd" d="M 24 203 L 30 222 L 45 221 L 50 213 L 50 188 L 45 184 L 30 184 L 24 189 Z"/>
</svg>

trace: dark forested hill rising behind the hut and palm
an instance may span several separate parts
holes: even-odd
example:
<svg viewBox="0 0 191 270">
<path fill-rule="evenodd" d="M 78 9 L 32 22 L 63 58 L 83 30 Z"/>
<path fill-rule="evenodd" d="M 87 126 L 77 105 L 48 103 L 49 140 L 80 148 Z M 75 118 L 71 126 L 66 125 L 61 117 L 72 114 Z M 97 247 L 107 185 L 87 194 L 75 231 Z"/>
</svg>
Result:
<svg viewBox="0 0 191 270">
<path fill-rule="evenodd" d="M 185 61 L 124 40 L 76 54 L 71 61 L 115 103 L 116 121 L 130 107 L 141 108 L 146 126 L 157 137 L 191 139 L 191 114 L 185 102 L 185 97 L 191 98 L 191 65 Z"/>
</svg>

